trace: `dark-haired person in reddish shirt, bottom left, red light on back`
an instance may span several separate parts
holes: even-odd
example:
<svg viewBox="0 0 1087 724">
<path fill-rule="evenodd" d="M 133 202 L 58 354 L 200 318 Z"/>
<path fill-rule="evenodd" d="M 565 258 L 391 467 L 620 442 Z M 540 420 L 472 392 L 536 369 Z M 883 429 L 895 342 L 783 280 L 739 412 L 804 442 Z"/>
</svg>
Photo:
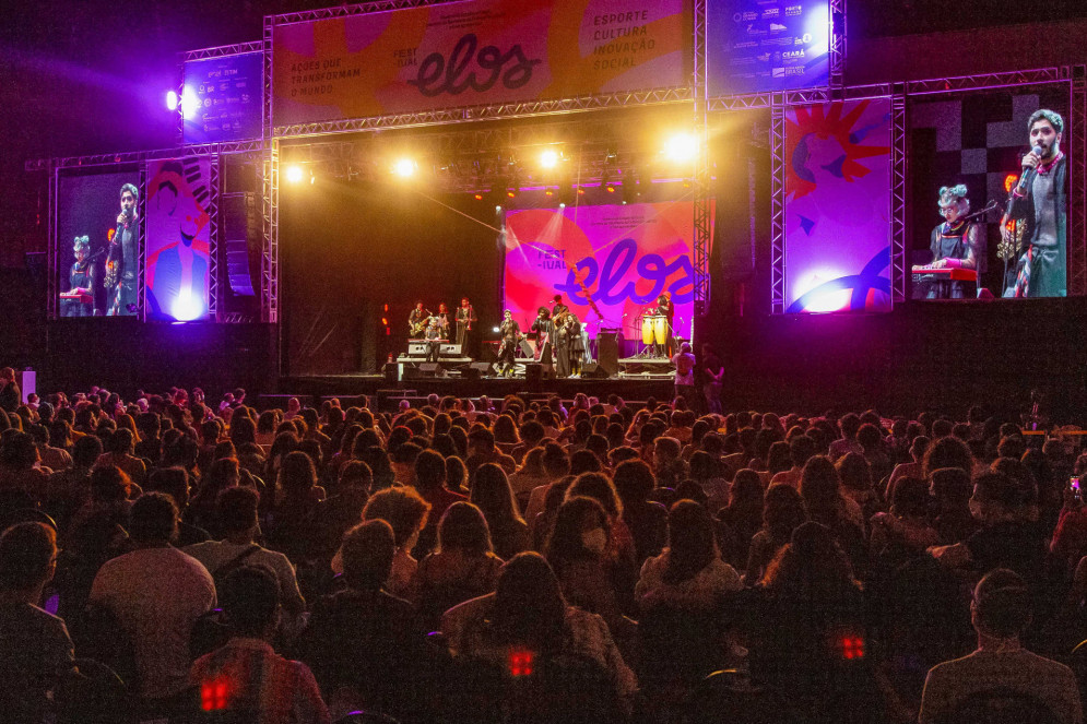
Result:
<svg viewBox="0 0 1087 724">
<path fill-rule="evenodd" d="M 329 724 L 309 668 L 272 649 L 279 622 L 280 585 L 262 566 L 243 566 L 223 581 L 223 613 L 231 627 L 226 645 L 192 664 L 189 683 L 200 708 L 235 713 L 262 724 Z"/>
</svg>

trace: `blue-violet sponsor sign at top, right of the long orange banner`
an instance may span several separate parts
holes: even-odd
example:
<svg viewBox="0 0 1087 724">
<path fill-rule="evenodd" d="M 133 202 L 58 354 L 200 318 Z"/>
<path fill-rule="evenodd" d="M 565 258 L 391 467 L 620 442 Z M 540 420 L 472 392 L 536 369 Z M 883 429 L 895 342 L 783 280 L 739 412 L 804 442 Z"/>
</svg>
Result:
<svg viewBox="0 0 1087 724">
<path fill-rule="evenodd" d="M 710 96 L 830 82 L 829 0 L 709 0 Z"/>
</svg>

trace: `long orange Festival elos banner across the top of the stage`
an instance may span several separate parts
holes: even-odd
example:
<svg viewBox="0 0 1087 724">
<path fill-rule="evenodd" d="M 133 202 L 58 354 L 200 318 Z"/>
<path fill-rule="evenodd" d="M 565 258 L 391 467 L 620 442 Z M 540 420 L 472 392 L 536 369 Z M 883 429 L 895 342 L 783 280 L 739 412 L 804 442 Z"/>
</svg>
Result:
<svg viewBox="0 0 1087 724">
<path fill-rule="evenodd" d="M 468 0 L 275 25 L 273 124 L 686 86 L 690 0 Z"/>
</svg>

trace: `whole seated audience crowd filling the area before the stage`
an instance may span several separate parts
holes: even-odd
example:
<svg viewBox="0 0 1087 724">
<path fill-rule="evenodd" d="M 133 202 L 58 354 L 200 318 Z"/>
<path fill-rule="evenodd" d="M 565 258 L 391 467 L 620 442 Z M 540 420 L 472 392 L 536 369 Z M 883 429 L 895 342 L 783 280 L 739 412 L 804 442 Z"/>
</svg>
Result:
<svg viewBox="0 0 1087 724">
<path fill-rule="evenodd" d="M 1083 721 L 1078 438 L 3 392 L 10 721 Z"/>
</svg>

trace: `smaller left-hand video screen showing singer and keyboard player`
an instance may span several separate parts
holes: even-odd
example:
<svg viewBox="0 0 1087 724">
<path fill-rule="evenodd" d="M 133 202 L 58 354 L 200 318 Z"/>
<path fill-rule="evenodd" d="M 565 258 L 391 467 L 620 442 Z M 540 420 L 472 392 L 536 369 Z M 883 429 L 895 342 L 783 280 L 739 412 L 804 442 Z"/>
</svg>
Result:
<svg viewBox="0 0 1087 724">
<path fill-rule="evenodd" d="M 61 175 L 57 185 L 60 317 L 139 311 L 140 173 L 134 167 Z"/>
</svg>

